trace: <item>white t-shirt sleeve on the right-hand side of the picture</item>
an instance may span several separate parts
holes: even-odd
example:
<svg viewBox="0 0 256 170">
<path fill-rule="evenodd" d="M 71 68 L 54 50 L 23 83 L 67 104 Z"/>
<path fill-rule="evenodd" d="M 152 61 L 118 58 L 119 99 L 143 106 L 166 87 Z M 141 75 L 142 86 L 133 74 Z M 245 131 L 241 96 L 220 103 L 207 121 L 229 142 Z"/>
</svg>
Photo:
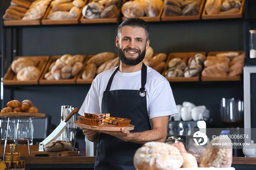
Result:
<svg viewBox="0 0 256 170">
<path fill-rule="evenodd" d="M 149 103 L 149 119 L 159 116 L 176 115 L 178 113 L 172 88 L 167 81 L 159 83 L 151 95 Z"/>
</svg>

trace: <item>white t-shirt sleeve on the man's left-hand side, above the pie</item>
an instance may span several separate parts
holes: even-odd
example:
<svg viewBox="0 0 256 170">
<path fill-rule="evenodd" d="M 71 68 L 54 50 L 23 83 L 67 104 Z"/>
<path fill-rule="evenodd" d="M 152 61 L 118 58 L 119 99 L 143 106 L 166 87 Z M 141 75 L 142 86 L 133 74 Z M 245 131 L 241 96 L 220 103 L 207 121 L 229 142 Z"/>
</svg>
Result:
<svg viewBox="0 0 256 170">
<path fill-rule="evenodd" d="M 100 114 L 99 99 L 95 81 L 91 84 L 91 88 L 89 89 L 78 113 L 80 115 L 84 115 L 84 113 Z"/>
</svg>

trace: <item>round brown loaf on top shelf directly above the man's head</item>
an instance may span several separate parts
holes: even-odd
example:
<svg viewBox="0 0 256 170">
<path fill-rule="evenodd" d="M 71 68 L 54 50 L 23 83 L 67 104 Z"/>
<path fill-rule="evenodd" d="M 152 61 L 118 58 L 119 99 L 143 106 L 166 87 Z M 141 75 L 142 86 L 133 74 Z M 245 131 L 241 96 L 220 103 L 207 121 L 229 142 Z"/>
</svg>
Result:
<svg viewBox="0 0 256 170">
<path fill-rule="evenodd" d="M 126 18 L 144 16 L 144 8 L 136 1 L 127 1 L 121 7 L 121 12 Z"/>
</svg>

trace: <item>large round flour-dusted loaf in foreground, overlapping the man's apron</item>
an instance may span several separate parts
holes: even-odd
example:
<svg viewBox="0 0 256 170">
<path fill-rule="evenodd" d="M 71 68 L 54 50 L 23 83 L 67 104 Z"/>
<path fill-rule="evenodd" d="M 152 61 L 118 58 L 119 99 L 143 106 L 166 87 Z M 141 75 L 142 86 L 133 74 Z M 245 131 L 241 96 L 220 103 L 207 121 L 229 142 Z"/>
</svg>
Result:
<svg viewBox="0 0 256 170">
<path fill-rule="evenodd" d="M 183 158 L 173 145 L 148 142 L 135 152 L 133 164 L 138 170 L 176 170 L 182 166 Z"/>
</svg>

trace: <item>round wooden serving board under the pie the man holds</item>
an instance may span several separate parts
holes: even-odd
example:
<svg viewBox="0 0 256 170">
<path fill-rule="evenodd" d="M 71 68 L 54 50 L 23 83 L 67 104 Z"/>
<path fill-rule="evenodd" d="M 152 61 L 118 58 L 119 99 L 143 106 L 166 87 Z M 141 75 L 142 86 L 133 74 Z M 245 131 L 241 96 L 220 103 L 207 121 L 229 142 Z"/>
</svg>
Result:
<svg viewBox="0 0 256 170">
<path fill-rule="evenodd" d="M 101 130 L 101 131 L 121 131 L 122 127 L 114 127 L 107 124 L 102 124 L 101 126 L 93 126 L 88 124 L 82 124 L 79 121 L 74 121 L 74 126 L 80 127 L 80 128 L 86 128 L 86 129 L 92 129 L 92 130 Z M 134 129 L 134 125 L 129 124 L 128 126 L 125 126 L 128 131 L 131 131 Z"/>
</svg>

